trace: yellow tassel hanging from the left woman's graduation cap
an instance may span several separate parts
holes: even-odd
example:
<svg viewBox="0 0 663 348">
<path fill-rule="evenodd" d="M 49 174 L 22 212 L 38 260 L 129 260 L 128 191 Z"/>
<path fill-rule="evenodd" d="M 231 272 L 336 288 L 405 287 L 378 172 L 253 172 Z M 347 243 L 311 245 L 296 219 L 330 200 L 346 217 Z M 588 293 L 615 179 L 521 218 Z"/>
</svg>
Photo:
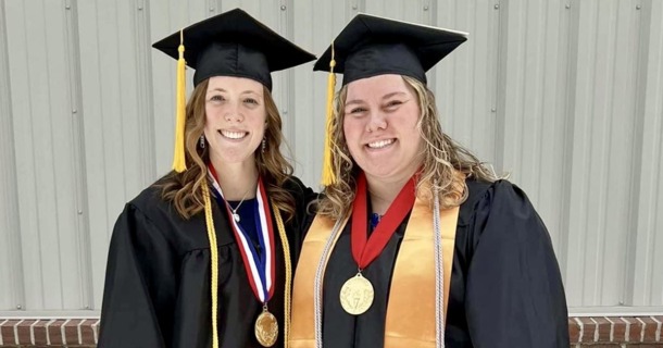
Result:
<svg viewBox="0 0 663 348">
<path fill-rule="evenodd" d="M 179 59 L 177 60 L 177 90 L 175 98 L 176 103 L 176 123 L 175 123 L 175 153 L 173 154 L 173 169 L 177 173 L 187 170 L 187 163 L 184 154 L 184 127 L 186 120 L 186 62 L 184 60 L 184 34 L 179 30 Z"/>
</svg>

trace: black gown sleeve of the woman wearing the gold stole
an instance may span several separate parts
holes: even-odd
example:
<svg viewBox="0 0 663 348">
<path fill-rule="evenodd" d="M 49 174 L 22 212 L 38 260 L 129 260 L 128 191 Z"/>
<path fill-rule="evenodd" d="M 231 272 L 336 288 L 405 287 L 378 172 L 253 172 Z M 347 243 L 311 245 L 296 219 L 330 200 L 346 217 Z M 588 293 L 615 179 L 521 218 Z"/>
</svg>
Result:
<svg viewBox="0 0 663 348">
<path fill-rule="evenodd" d="M 498 182 L 478 202 L 465 311 L 475 348 L 568 347 L 550 235 L 525 194 Z"/>
</svg>

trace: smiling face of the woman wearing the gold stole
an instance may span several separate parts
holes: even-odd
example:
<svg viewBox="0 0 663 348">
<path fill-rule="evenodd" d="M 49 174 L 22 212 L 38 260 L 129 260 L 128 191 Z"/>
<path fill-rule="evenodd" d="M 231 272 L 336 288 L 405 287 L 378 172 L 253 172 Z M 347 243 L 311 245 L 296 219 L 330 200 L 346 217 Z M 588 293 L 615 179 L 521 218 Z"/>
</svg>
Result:
<svg viewBox="0 0 663 348">
<path fill-rule="evenodd" d="M 384 183 L 410 178 L 422 162 L 420 107 L 400 75 L 378 75 L 348 84 L 343 134 L 366 178 Z"/>
</svg>

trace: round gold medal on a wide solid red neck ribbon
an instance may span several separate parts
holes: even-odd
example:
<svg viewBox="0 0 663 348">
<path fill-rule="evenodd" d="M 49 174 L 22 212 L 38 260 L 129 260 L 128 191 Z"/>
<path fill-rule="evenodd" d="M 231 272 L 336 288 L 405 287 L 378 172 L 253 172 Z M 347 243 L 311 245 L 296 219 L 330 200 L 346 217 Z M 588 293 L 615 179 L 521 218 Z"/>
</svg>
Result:
<svg viewBox="0 0 663 348">
<path fill-rule="evenodd" d="M 350 231 L 352 258 L 356 262 L 359 272 L 343 284 L 339 295 L 340 304 L 349 314 L 362 314 L 373 304 L 375 291 L 371 281 L 362 275 L 362 270 L 380 254 L 412 209 L 415 199 L 414 189 L 414 177 L 412 177 L 391 202 L 387 213 L 368 238 L 366 228 L 366 216 L 368 215 L 366 176 L 364 172 L 360 172 L 356 178 L 356 195 L 352 203 L 352 228 Z"/>
</svg>

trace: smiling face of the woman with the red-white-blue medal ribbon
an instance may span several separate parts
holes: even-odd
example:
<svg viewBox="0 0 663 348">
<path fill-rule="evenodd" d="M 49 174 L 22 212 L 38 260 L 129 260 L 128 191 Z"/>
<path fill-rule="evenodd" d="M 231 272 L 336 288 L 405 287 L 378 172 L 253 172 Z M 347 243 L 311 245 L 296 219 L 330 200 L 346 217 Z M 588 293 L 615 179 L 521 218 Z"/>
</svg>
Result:
<svg viewBox="0 0 663 348">
<path fill-rule="evenodd" d="M 214 76 L 205 94 L 204 135 L 212 163 L 255 162 L 265 134 L 263 85 L 249 78 Z"/>
</svg>

